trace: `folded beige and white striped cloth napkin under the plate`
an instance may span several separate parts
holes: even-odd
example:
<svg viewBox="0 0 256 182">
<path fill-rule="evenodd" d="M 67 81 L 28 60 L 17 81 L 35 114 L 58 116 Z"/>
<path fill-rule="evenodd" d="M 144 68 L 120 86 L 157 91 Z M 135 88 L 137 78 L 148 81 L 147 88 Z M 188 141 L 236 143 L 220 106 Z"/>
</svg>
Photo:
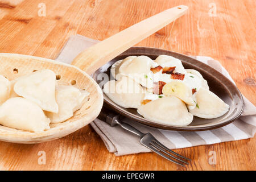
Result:
<svg viewBox="0 0 256 182">
<path fill-rule="evenodd" d="M 79 52 L 97 42 L 98 40 L 85 38 L 81 35 L 71 36 L 56 60 L 70 64 Z M 220 63 L 218 63 L 218 61 L 206 56 L 192 57 L 217 69 L 217 71 L 233 81 L 229 73 Z M 160 130 L 142 125 L 141 123 L 128 118 L 123 119 L 123 122 L 129 123 L 143 133 L 151 133 L 156 139 L 170 149 L 247 139 L 254 137 L 256 131 L 256 107 L 245 97 L 243 97 L 243 99 L 245 102 L 245 109 L 240 118 L 229 125 L 209 131 L 188 132 Z M 136 135 L 123 130 L 120 126 L 110 127 L 100 119 L 95 119 L 90 125 L 98 135 L 100 135 L 108 150 L 114 152 L 115 155 L 119 156 L 136 154 L 139 152 L 150 152 L 148 148 L 139 143 L 139 138 Z"/>
</svg>

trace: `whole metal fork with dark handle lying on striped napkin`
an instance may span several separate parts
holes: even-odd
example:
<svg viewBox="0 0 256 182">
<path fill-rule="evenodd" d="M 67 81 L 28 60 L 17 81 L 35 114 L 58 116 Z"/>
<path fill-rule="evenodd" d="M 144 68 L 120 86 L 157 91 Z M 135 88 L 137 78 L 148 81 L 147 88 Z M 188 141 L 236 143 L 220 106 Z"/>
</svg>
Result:
<svg viewBox="0 0 256 182">
<path fill-rule="evenodd" d="M 188 164 L 188 160 L 190 160 L 190 159 L 185 158 L 184 156 L 181 156 L 181 155 L 177 154 L 174 151 L 171 151 L 169 148 L 167 148 L 162 143 L 160 143 L 150 133 L 146 133 L 146 134 L 142 133 L 141 131 L 135 129 L 133 126 L 122 122 L 121 119 L 120 119 L 120 116 L 121 115 L 119 115 L 119 114 L 114 114 L 114 113 L 106 114 L 106 112 L 103 113 L 101 111 L 101 114 L 100 114 L 99 118 L 100 119 L 105 119 L 105 122 L 108 123 L 111 127 L 119 125 L 123 129 L 138 135 L 139 137 L 141 137 L 140 142 L 143 146 L 149 148 L 153 152 L 156 152 L 156 154 L 162 156 L 163 158 L 165 158 L 167 160 L 170 160 L 173 163 L 179 164 L 180 166 L 184 166 L 183 163 Z M 183 159 L 183 160 L 181 160 L 180 158 Z M 176 160 L 174 160 L 174 159 L 176 159 Z"/>
</svg>

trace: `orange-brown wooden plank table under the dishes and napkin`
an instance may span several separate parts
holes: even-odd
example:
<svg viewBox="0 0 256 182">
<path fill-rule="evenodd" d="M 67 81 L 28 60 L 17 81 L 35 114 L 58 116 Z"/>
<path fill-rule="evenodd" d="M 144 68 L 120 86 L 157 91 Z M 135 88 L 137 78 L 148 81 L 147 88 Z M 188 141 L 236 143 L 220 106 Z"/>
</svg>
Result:
<svg viewBox="0 0 256 182">
<path fill-rule="evenodd" d="M 10 1 L 0 3 L 0 52 L 49 59 L 56 58 L 71 35 L 104 40 L 160 11 L 187 5 L 190 9 L 186 15 L 137 46 L 213 57 L 229 71 L 242 94 L 256 104 L 254 0 Z M 42 2 L 46 16 L 42 16 Z M 179 167 L 153 153 L 115 156 L 106 150 L 92 127 L 86 126 L 47 143 L 0 142 L 0 169 L 255 170 L 255 143 L 254 137 L 175 150 L 192 159 L 188 167 Z M 40 151 L 46 152 L 46 164 L 38 163 L 43 154 Z M 216 165 L 208 163 L 209 151 L 216 152 Z"/>
</svg>

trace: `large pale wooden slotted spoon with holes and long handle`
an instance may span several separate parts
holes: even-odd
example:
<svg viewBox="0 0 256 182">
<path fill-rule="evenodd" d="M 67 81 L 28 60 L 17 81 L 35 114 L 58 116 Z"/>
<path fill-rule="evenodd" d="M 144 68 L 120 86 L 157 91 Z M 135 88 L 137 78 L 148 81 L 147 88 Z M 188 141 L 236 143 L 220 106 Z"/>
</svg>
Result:
<svg viewBox="0 0 256 182">
<path fill-rule="evenodd" d="M 88 75 L 126 51 L 134 44 L 173 22 L 187 11 L 187 6 L 177 6 L 151 16 L 110 38 L 81 52 L 72 65 L 42 57 L 0 53 L 0 75 L 9 80 L 28 75 L 36 70 L 51 69 L 63 85 L 74 85 L 90 92 L 82 108 L 63 123 L 51 125 L 51 129 L 31 133 L 0 125 L 0 140 L 13 143 L 40 143 L 64 137 L 92 122 L 100 114 L 103 96 L 100 86 Z M 86 73 L 85 73 L 86 72 Z"/>
</svg>

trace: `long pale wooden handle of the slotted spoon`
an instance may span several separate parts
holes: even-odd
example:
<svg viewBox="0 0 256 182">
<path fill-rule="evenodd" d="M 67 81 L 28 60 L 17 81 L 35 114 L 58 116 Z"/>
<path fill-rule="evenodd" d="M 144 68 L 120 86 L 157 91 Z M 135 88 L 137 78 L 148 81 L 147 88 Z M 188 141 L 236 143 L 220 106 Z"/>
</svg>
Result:
<svg viewBox="0 0 256 182">
<path fill-rule="evenodd" d="M 187 6 L 180 5 L 144 19 L 82 51 L 71 64 L 92 74 L 114 57 L 185 14 L 187 10 Z"/>
</svg>

